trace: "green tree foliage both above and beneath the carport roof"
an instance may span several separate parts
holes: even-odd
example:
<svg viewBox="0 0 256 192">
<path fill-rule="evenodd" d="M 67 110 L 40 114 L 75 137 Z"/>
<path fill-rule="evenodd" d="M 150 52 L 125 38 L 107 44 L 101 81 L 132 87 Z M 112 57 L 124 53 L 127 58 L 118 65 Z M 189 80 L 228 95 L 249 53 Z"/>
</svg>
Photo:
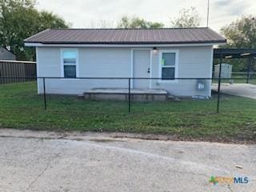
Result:
<svg viewBox="0 0 256 192">
<path fill-rule="evenodd" d="M 256 48 L 256 19 L 253 15 L 243 16 L 223 26 L 221 33 L 227 39 L 226 45 L 221 46 L 222 48 Z M 224 62 L 233 64 L 234 71 L 247 70 L 247 59 L 224 59 Z"/>
</svg>

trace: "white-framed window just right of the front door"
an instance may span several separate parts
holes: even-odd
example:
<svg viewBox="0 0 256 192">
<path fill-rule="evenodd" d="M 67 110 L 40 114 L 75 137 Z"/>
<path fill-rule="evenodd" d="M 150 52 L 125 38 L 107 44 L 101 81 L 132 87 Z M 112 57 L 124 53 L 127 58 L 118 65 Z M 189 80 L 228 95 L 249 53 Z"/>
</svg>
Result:
<svg viewBox="0 0 256 192">
<path fill-rule="evenodd" d="M 162 52 L 160 54 L 161 78 L 162 80 L 171 80 L 176 77 L 177 52 Z"/>
</svg>

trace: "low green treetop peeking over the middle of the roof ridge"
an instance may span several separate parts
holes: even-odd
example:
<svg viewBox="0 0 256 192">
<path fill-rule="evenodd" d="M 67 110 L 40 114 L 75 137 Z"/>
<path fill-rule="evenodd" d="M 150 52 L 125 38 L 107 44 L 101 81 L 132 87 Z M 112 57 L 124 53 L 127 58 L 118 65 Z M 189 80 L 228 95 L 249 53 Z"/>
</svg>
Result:
<svg viewBox="0 0 256 192">
<path fill-rule="evenodd" d="M 124 28 L 124 29 L 150 29 L 150 28 L 162 28 L 164 24 L 161 22 L 148 22 L 144 20 L 143 18 L 128 18 L 128 17 L 122 17 L 120 22 L 118 22 L 118 28 Z"/>
</svg>

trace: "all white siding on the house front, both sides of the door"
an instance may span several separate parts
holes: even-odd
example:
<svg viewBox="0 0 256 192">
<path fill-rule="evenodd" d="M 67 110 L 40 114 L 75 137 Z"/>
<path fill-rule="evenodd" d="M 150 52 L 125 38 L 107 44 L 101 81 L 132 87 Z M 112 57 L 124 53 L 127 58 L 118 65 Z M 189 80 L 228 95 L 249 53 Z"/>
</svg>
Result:
<svg viewBox="0 0 256 192">
<path fill-rule="evenodd" d="M 64 47 L 63 47 L 64 48 Z M 211 78 L 212 46 L 169 47 L 164 50 L 178 50 L 178 78 Z M 38 47 L 38 76 L 61 77 L 59 47 Z M 152 56 L 152 78 L 159 77 L 159 50 Z M 129 78 L 131 76 L 130 48 L 78 48 L 79 77 L 86 78 Z M 135 69 L 135 68 L 134 68 Z M 206 90 L 196 90 L 196 80 L 161 82 L 152 80 L 154 89 L 165 89 L 177 96 L 210 96 L 210 80 Z M 95 87 L 126 88 L 127 80 L 97 79 L 46 79 L 46 92 L 49 94 L 82 94 Z M 38 85 L 42 93 L 42 83 Z"/>
</svg>

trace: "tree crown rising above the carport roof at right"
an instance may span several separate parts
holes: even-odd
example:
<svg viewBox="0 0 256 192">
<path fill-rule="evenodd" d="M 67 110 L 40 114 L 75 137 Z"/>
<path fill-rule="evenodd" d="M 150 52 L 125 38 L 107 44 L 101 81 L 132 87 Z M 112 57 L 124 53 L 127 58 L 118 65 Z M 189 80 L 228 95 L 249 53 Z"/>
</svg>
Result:
<svg viewBox="0 0 256 192">
<path fill-rule="evenodd" d="M 256 48 L 256 19 L 253 15 L 243 16 L 223 26 L 221 33 L 226 37 L 225 47 L 230 48 Z"/>
</svg>

